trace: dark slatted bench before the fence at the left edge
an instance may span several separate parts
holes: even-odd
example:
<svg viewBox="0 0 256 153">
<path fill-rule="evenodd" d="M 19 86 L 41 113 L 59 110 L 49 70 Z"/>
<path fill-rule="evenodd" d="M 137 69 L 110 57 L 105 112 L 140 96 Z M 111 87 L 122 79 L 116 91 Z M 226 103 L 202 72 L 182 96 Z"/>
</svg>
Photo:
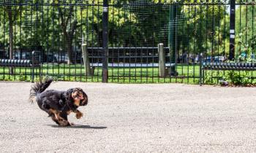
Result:
<svg viewBox="0 0 256 153">
<path fill-rule="evenodd" d="M 40 62 L 39 53 L 40 52 L 33 51 L 32 59 L 18 60 L 18 59 L 1 59 L 0 58 L 0 66 L 31 68 L 31 82 L 34 82 L 34 69 L 39 68 L 39 73 L 41 72 L 41 62 Z"/>
</svg>

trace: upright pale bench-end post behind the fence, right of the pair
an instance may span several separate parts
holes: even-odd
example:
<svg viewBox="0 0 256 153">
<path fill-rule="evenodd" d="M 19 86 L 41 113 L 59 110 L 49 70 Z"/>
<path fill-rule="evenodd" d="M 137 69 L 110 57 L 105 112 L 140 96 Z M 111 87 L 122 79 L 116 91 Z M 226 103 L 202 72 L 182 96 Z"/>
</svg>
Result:
<svg viewBox="0 0 256 153">
<path fill-rule="evenodd" d="M 158 44 L 158 69 L 159 69 L 159 76 L 165 77 L 165 50 L 164 50 L 164 44 L 159 43 Z"/>
</svg>

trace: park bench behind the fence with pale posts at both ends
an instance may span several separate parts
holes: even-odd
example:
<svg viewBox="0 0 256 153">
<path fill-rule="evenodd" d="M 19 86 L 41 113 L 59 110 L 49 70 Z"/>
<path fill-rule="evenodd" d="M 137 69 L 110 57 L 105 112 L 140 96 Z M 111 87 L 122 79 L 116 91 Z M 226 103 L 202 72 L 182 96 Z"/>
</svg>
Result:
<svg viewBox="0 0 256 153">
<path fill-rule="evenodd" d="M 102 47 L 87 47 L 86 44 L 83 44 L 83 55 L 84 59 L 86 59 L 86 69 L 90 69 L 86 74 L 94 74 L 95 67 L 102 67 L 102 61 L 104 56 L 102 56 Z M 93 51 L 94 50 L 94 51 Z M 166 63 L 165 58 L 165 50 L 169 50 L 168 47 L 164 47 L 162 43 L 158 45 L 158 47 L 109 47 L 109 55 L 110 58 L 108 67 L 109 68 L 159 68 L 159 76 L 167 76 L 167 75 L 178 75 L 178 73 L 171 73 L 170 69 L 174 69 L 176 63 Z M 144 53 L 146 55 L 137 55 L 136 50 L 138 52 Z M 89 51 L 91 54 L 94 52 L 98 52 L 97 55 L 89 55 Z M 126 55 L 125 51 L 129 51 L 129 53 L 134 53 L 130 55 Z M 152 55 L 149 55 L 149 51 Z M 118 54 L 111 54 L 111 52 L 118 52 Z M 156 53 L 158 52 L 158 55 Z M 92 60 L 90 63 L 89 59 Z M 94 63 L 95 60 L 97 63 Z M 118 60 L 116 60 L 118 59 Z M 151 62 L 151 63 L 149 63 Z M 156 63 L 158 62 L 158 63 Z"/>
</svg>

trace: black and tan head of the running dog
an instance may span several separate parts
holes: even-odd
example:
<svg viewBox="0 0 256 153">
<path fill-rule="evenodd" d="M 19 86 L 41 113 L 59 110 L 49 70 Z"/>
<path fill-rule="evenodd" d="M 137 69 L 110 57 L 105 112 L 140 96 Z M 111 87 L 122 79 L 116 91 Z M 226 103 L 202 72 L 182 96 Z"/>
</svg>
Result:
<svg viewBox="0 0 256 153">
<path fill-rule="evenodd" d="M 67 90 L 66 96 L 74 101 L 75 106 L 86 106 L 88 103 L 86 93 L 79 87 Z"/>
</svg>

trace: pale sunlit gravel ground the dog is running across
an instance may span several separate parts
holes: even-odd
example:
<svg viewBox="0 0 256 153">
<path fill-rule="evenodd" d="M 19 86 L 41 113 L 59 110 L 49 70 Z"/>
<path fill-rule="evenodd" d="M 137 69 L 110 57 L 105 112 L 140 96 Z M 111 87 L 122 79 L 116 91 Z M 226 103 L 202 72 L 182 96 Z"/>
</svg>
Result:
<svg viewBox="0 0 256 153">
<path fill-rule="evenodd" d="M 253 87 L 53 82 L 89 95 L 72 127 L 29 103 L 30 87 L 0 82 L 1 152 L 256 152 Z"/>
</svg>

